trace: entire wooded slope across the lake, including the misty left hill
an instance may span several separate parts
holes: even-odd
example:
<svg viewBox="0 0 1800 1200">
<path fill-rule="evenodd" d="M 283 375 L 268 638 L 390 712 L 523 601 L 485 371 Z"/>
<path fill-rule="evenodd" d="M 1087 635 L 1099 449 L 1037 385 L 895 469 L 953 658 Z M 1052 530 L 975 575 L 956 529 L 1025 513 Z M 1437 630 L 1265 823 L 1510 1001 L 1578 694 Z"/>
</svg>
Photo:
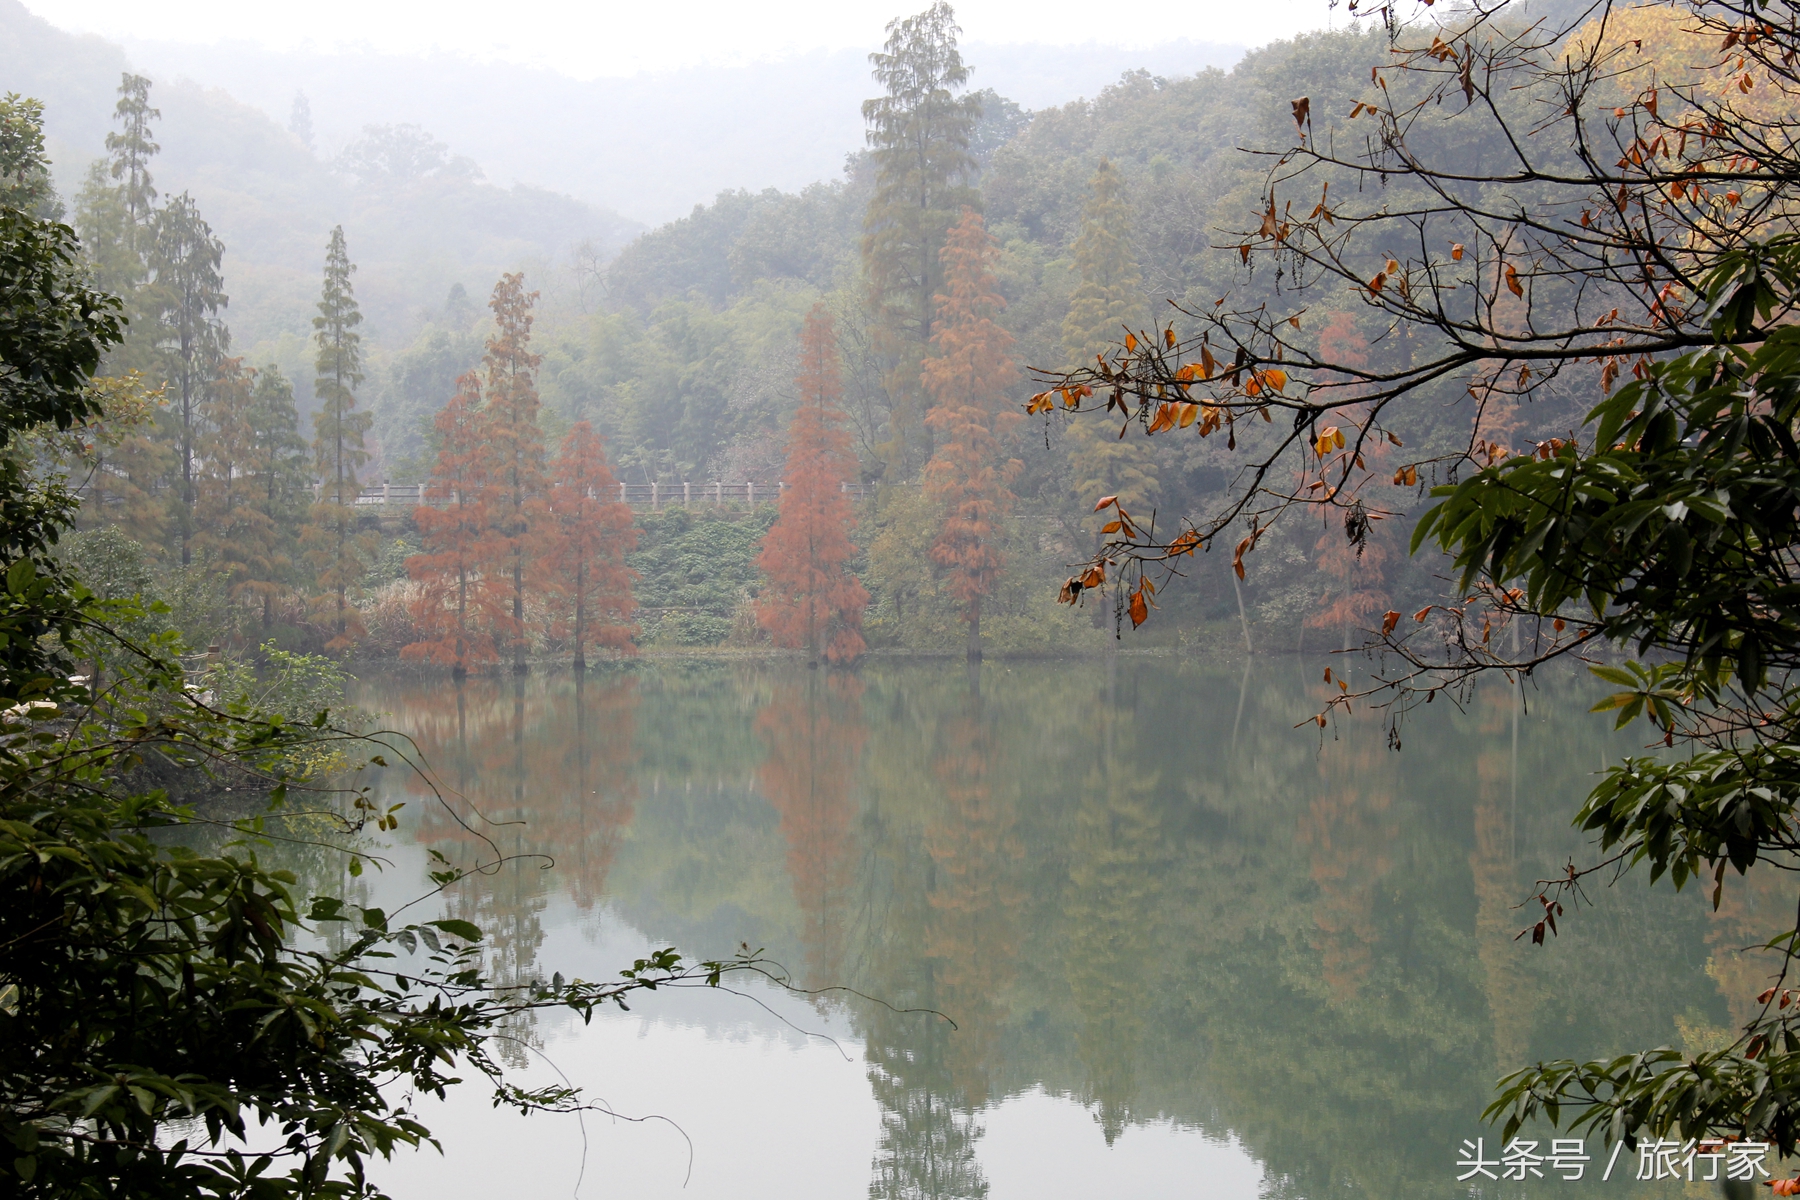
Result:
<svg viewBox="0 0 1800 1200">
<path fill-rule="evenodd" d="M 1206 437 L 1202 423 L 1201 435 L 1145 441 L 1093 421 L 1021 423 L 1033 371 L 1091 363 L 1129 331 L 1174 322 L 1188 336 L 1190 313 L 1226 297 L 1242 308 L 1278 295 L 1282 264 L 1240 252 L 1233 232 L 1267 219 L 1267 151 L 1292 144 L 1296 94 L 1310 97 L 1319 121 L 1337 121 L 1388 54 L 1382 27 L 1309 34 L 1251 52 L 1229 72 L 1134 70 L 1093 99 L 1031 112 L 976 86 L 979 63 L 961 59 L 954 13 L 940 4 L 896 20 L 871 56 L 868 148 L 842 175 L 797 193 L 722 193 L 614 252 L 619 218 L 493 187 L 427 130 L 369 128 L 324 160 L 308 148 L 304 106 L 277 130 L 187 85 L 124 74 L 124 90 L 103 95 L 97 79 L 119 70 L 115 52 L 58 34 L 16 4 L 0 14 L 20 56 L 67 67 L 23 83 L 52 97 L 47 148 L 65 155 L 54 178 L 101 281 L 137 306 L 115 367 L 162 385 L 148 401 L 162 405 L 148 432 L 115 432 L 112 457 L 90 464 L 95 520 L 121 524 L 149 563 L 193 561 L 194 547 L 205 549 L 207 506 L 229 504 L 207 500 L 205 484 L 223 461 L 221 398 L 292 389 L 293 425 L 281 437 L 313 452 L 279 470 L 266 453 L 232 468 L 279 477 L 265 491 L 286 498 L 261 506 L 263 549 L 207 551 L 243 560 L 221 585 L 236 599 L 220 599 L 223 615 L 207 619 L 236 626 L 207 637 L 248 644 L 274 631 L 400 653 L 432 640 L 432 604 L 450 603 L 432 590 L 432 572 L 455 570 L 466 576 L 459 630 L 486 622 L 495 660 L 513 657 L 506 648 L 545 653 L 569 633 L 553 612 L 556 588 L 542 603 L 522 576 L 499 588 L 491 547 L 513 545 L 517 567 L 522 531 L 549 529 L 551 461 L 583 426 L 601 439 L 607 488 L 641 489 L 608 495 L 639 511 L 635 549 L 608 551 L 628 556 L 639 576 L 637 599 L 614 615 L 619 628 L 639 644 L 767 642 L 772 633 L 756 615 L 767 578 L 754 560 L 774 515 L 702 506 L 675 522 L 644 509 L 684 489 L 704 500 L 727 484 L 738 507 L 754 488 L 763 500 L 781 495 L 794 470 L 808 313 L 833 331 L 823 419 L 848 441 L 839 486 L 857 498 L 850 558 L 832 570 L 853 572 L 868 592 L 859 617 L 868 644 L 1102 646 L 1123 621 L 1118 597 L 1053 603 L 1067 567 L 1111 520 L 1096 504 L 1116 498 L 1134 520 L 1163 527 L 1204 513 L 1237 470 L 1222 441 L 1240 434 Z M 918 63 L 932 67 L 920 76 Z M 61 124 L 58 104 L 70 113 Z M 68 155 L 103 137 L 108 157 L 86 175 L 74 169 Z M 157 234 L 175 210 L 185 214 L 180 245 Z M 347 374 L 326 383 L 313 360 L 319 322 L 337 320 L 326 313 L 335 300 L 313 297 L 333 227 L 347 255 L 356 349 Z M 198 291 L 182 246 L 209 259 Z M 518 281 L 495 284 L 502 272 Z M 490 313 L 502 293 L 522 297 L 529 313 L 515 338 L 529 362 L 509 383 L 493 374 L 495 347 L 515 336 Z M 1393 353 L 1354 293 L 1314 299 L 1296 329 L 1337 356 Z M 527 437 L 529 470 L 508 468 L 506 504 L 482 502 L 488 533 L 432 534 L 410 506 L 448 504 L 477 486 L 457 471 L 486 471 L 479 488 L 500 488 L 499 468 L 477 462 L 477 425 L 468 425 L 466 461 L 457 457 L 446 407 L 466 396 L 468 421 L 490 421 L 482 414 L 495 396 L 517 387 L 529 387 L 533 401 L 506 437 Z M 1465 425 L 1440 434 L 1427 414 L 1415 410 L 1406 421 L 1417 428 L 1402 423 L 1399 434 L 1426 446 L 1467 435 Z M 1571 419 L 1571 410 L 1544 408 L 1530 423 Z M 446 482 L 446 471 L 464 484 Z M 369 484 L 409 486 L 412 498 L 358 506 Z M 122 516 L 106 504 L 122 506 Z M 823 511 L 808 498 L 794 504 Z M 1154 637 L 1215 626 L 1215 642 L 1298 646 L 1310 628 L 1316 642 L 1346 642 L 1391 604 L 1436 596 L 1431 569 L 1402 552 L 1402 524 L 1375 527 L 1357 547 L 1334 529 L 1289 524 L 1264 540 L 1242 583 L 1222 556 L 1193 558 L 1184 567 L 1193 578 L 1159 599 L 1166 619 Z M 461 549 L 445 536 L 463 538 Z M 468 578 L 515 599 L 470 599 Z M 169 587 L 193 590 L 193 581 Z M 247 615 L 232 617 L 234 604 Z M 320 604 L 333 613 L 324 624 Z M 466 651 L 452 655 L 459 667 L 475 662 Z"/>
</svg>

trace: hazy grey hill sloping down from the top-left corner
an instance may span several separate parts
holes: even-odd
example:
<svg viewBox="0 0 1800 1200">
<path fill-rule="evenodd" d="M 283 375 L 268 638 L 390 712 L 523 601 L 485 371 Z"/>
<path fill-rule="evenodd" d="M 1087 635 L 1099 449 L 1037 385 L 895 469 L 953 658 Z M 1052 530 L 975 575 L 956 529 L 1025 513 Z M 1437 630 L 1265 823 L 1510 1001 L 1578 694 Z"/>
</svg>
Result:
<svg viewBox="0 0 1800 1200">
<path fill-rule="evenodd" d="M 374 336 L 407 335 L 455 284 L 486 295 L 502 270 L 567 261 L 583 243 L 592 255 L 610 257 L 643 228 L 544 187 L 491 184 L 473 166 L 409 178 L 335 171 L 227 90 L 158 72 L 103 38 L 54 29 L 18 0 L 0 0 L 0 90 L 45 103 L 45 140 L 65 200 L 104 155 L 121 72 L 148 70 L 151 103 L 162 110 L 155 122 L 162 151 L 151 164 L 157 191 L 191 193 L 225 241 L 236 347 L 263 347 L 261 354 L 288 367 L 308 358 L 299 340 L 311 329 L 333 225 L 344 225 L 349 239 Z M 452 148 L 425 130 L 400 135 L 452 162 Z"/>
</svg>

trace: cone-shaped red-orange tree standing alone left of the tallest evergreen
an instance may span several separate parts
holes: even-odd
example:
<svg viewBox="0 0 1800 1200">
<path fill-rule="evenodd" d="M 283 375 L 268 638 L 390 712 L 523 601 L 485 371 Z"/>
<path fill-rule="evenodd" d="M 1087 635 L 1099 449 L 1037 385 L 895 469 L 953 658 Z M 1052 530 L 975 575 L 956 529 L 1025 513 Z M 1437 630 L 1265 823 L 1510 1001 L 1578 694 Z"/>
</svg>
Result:
<svg viewBox="0 0 1800 1200">
<path fill-rule="evenodd" d="M 781 515 L 756 560 L 767 576 L 756 621 L 776 646 L 805 649 L 817 662 L 850 662 L 864 651 L 862 610 L 869 594 L 844 570 L 853 513 L 844 486 L 857 470 L 839 398 L 844 394 L 837 335 L 814 304 L 799 335 L 799 408 L 788 425 Z"/>
</svg>

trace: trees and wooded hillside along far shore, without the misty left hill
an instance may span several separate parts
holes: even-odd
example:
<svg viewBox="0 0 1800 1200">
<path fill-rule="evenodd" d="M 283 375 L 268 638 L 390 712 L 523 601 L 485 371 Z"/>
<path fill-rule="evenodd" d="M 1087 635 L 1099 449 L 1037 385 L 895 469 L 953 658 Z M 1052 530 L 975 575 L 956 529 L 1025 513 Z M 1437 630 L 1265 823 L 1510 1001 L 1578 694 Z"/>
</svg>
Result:
<svg viewBox="0 0 1800 1200">
<path fill-rule="evenodd" d="M 90 533 L 70 552 L 95 560 L 90 570 L 104 560 L 121 579 L 153 579 L 194 639 L 421 655 L 443 644 L 454 603 L 464 635 L 481 624 L 463 639 L 464 651 L 484 648 L 477 660 L 563 653 L 571 585 L 527 581 L 524 563 L 547 572 L 556 560 L 544 538 L 558 524 L 554 457 L 571 439 L 608 488 L 704 495 L 724 480 L 772 497 L 803 462 L 817 466 L 826 437 L 833 466 L 805 470 L 837 500 L 815 488 L 785 495 L 783 513 L 817 524 L 830 509 L 841 524 L 830 561 L 799 576 L 776 561 L 770 547 L 796 543 L 765 536 L 772 509 L 610 513 L 630 531 L 608 534 L 601 640 L 749 646 L 785 628 L 778 640 L 823 653 L 837 637 L 819 633 L 830 626 L 857 628 L 859 646 L 875 648 L 1098 648 L 1129 613 L 1107 597 L 1053 603 L 1067 565 L 1111 520 L 1096 504 L 1116 498 L 1134 520 L 1172 524 L 1217 502 L 1235 468 L 1204 423 L 1154 441 L 1093 421 L 1024 423 L 1033 371 L 1091 362 L 1170 322 L 1186 336 L 1186 311 L 1224 297 L 1244 306 L 1292 282 L 1280 263 L 1240 254 L 1233 230 L 1262 219 L 1264 149 L 1292 142 L 1291 97 L 1346 112 L 1386 54 L 1386 31 L 1274 43 L 1231 72 L 1127 74 L 1093 101 L 1042 112 L 974 86 L 979 65 L 961 61 L 949 5 L 896 20 L 889 34 L 871 56 L 869 146 L 842 178 L 797 194 L 724 193 L 610 261 L 590 252 L 511 273 L 491 306 L 486 284 L 457 282 L 405 344 L 360 344 L 358 230 L 340 228 L 299 398 L 292 365 L 232 354 L 229 246 L 191 196 L 157 193 L 160 113 L 151 83 L 126 76 L 108 157 L 67 201 L 97 281 L 126 297 L 131 318 L 110 363 L 117 416 L 77 455 Z M 383 187 L 475 171 L 421 130 L 371 130 L 346 155 Z M 43 203 L 65 209 L 50 193 Z M 499 468 L 470 459 L 497 444 L 481 423 L 495 419 L 493 347 L 513 336 L 495 317 L 502 290 L 531 308 L 522 387 L 533 405 L 511 437 L 536 448 L 524 482 L 513 470 L 508 520 L 495 516 Z M 1341 362 L 1409 353 L 1370 311 L 1346 293 L 1303 320 Z M 810 367 L 808 315 L 830 329 Z M 358 342 L 355 362 L 342 335 Z M 477 376 L 486 381 L 472 396 L 464 383 Z M 446 425 L 459 403 L 473 421 L 463 434 Z M 1498 412 L 1483 434 L 1575 416 L 1557 403 Z M 1409 419 L 1409 446 L 1467 437 L 1465 423 L 1433 428 L 1426 408 Z M 808 444 L 790 435 L 803 426 Z M 484 473 L 473 491 L 454 486 L 459 455 Z M 418 484 L 436 500 L 416 515 L 358 506 L 369 482 Z M 482 511 L 455 534 L 461 549 L 446 549 L 455 538 L 441 515 L 457 495 L 481 497 Z M 1159 597 L 1157 637 L 1285 648 L 1316 630 L 1318 642 L 1348 642 L 1391 604 L 1438 590 L 1431 565 L 1400 552 L 1402 524 L 1384 522 L 1355 549 L 1336 529 L 1283 527 L 1242 583 L 1226 563 L 1195 558 L 1188 585 Z M 443 572 L 461 578 L 454 601 Z M 796 583 L 806 572 L 812 583 Z M 846 581 L 857 604 L 842 603 Z M 824 592 L 837 608 L 808 633 L 774 615 Z M 450 653 L 459 667 L 473 662 L 464 651 Z"/>
</svg>

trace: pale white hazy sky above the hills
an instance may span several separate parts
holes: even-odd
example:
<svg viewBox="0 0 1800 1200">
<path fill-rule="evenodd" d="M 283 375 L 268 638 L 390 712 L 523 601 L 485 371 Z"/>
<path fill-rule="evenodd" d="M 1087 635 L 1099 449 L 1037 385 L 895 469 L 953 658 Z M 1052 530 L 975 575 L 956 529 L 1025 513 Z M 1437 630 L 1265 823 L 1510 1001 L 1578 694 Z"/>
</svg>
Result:
<svg viewBox="0 0 1800 1200">
<path fill-rule="evenodd" d="M 450 52 L 580 79 L 745 63 L 792 50 L 877 47 L 925 0 L 25 0 L 61 29 L 110 38 L 256 41 L 272 49 Z M 968 41 L 1150 47 L 1260 45 L 1330 23 L 1332 0 L 961 0 Z"/>
</svg>

